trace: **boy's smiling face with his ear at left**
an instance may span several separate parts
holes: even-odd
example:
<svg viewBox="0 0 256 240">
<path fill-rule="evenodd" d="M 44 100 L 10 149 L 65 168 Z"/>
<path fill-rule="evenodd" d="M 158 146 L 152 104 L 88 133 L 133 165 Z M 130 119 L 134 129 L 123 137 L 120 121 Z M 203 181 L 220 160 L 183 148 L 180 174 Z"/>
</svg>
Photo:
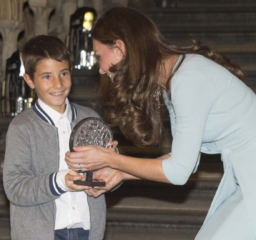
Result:
<svg viewBox="0 0 256 240">
<path fill-rule="evenodd" d="M 45 104 L 61 114 L 65 112 L 65 99 L 71 89 L 68 61 L 44 59 L 37 64 L 34 81 L 27 74 L 24 74 L 24 80 Z"/>
</svg>

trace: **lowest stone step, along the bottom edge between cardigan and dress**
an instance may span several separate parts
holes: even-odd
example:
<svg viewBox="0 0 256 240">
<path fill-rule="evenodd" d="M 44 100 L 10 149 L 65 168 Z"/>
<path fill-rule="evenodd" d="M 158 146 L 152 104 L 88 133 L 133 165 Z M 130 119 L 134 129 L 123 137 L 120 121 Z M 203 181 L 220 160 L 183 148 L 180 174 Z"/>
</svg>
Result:
<svg viewBox="0 0 256 240">
<path fill-rule="evenodd" d="M 107 209 L 104 240 L 191 240 L 204 221 L 199 211 Z M 125 215 L 123 214 L 125 212 Z"/>
</svg>

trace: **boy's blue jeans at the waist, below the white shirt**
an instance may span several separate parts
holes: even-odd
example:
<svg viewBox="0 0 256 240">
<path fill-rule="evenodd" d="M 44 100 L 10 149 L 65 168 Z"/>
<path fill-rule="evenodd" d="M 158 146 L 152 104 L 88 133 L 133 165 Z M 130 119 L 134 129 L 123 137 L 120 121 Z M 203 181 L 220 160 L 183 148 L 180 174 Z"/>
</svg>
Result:
<svg viewBox="0 0 256 240">
<path fill-rule="evenodd" d="M 55 230 L 55 240 L 88 240 L 89 230 L 83 228 L 63 228 Z"/>
</svg>

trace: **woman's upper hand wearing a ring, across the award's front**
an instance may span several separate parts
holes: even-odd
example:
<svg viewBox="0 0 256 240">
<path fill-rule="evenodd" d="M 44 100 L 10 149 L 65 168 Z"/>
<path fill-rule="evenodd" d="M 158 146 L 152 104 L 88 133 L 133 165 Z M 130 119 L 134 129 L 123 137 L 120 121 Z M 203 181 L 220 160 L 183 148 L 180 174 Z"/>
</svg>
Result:
<svg viewBox="0 0 256 240">
<path fill-rule="evenodd" d="M 117 146 L 117 141 L 112 141 L 109 146 Z M 65 161 L 68 167 L 72 170 L 91 171 L 101 169 L 103 167 L 110 167 L 110 154 L 115 151 L 115 148 L 104 148 L 101 146 L 77 146 L 73 147 L 75 152 L 67 152 L 65 154 Z"/>
</svg>

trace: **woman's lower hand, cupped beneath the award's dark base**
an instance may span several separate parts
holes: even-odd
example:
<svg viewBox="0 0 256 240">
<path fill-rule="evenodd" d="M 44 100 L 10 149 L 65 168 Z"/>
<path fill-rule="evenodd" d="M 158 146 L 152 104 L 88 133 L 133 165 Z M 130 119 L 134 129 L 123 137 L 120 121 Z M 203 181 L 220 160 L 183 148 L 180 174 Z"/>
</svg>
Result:
<svg viewBox="0 0 256 240">
<path fill-rule="evenodd" d="M 112 169 L 110 167 L 105 167 L 100 170 L 97 170 L 96 172 L 93 173 L 93 179 L 105 181 L 106 186 L 90 188 L 89 190 L 85 190 L 85 192 L 87 195 L 97 198 L 102 193 L 111 190 L 116 185 L 121 183 L 124 180 L 124 175 L 124 172 Z"/>
</svg>

